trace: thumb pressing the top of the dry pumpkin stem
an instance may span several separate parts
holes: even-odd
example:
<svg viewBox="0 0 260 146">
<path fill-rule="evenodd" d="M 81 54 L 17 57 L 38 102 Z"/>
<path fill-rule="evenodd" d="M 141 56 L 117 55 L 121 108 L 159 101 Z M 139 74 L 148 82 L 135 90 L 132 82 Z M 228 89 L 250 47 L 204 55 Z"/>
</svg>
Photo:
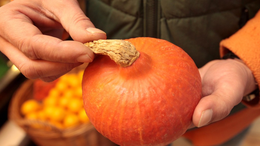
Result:
<svg viewBox="0 0 260 146">
<path fill-rule="evenodd" d="M 81 10 L 76 0 L 55 1 L 54 5 L 48 5 L 50 10 L 55 10 L 54 15 L 74 41 L 86 43 L 98 39 L 106 39 L 106 33 L 95 28 L 94 24 Z M 58 7 L 57 7 L 58 6 Z M 58 10 L 57 10 L 58 9 Z"/>
</svg>

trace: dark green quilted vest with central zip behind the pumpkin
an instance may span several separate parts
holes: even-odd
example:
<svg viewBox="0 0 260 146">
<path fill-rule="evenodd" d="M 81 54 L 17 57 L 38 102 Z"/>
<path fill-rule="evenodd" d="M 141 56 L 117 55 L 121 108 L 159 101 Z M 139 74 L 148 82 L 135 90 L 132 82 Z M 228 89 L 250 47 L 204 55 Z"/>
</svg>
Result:
<svg viewBox="0 0 260 146">
<path fill-rule="evenodd" d="M 202 67 L 259 8 L 260 0 L 87 0 L 86 15 L 108 39 L 165 39 Z"/>
</svg>

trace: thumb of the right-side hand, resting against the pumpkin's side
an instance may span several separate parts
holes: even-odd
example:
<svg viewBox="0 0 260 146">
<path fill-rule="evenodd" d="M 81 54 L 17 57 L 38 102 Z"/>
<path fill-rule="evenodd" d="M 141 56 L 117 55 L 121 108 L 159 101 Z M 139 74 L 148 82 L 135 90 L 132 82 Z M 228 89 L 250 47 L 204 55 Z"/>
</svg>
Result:
<svg viewBox="0 0 260 146">
<path fill-rule="evenodd" d="M 194 125 L 202 127 L 228 116 L 231 109 L 241 102 L 243 96 L 242 92 L 234 91 L 238 90 L 219 88 L 211 95 L 203 97 L 193 113 Z"/>
</svg>

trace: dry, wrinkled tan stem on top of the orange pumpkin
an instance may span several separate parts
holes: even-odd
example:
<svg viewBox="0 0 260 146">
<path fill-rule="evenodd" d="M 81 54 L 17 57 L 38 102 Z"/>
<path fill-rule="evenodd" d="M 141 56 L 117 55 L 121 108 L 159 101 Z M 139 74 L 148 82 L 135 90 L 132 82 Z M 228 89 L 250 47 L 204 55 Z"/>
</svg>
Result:
<svg viewBox="0 0 260 146">
<path fill-rule="evenodd" d="M 100 39 L 84 45 L 95 54 L 108 55 L 122 67 L 131 65 L 140 55 L 132 43 L 121 39 Z"/>
</svg>

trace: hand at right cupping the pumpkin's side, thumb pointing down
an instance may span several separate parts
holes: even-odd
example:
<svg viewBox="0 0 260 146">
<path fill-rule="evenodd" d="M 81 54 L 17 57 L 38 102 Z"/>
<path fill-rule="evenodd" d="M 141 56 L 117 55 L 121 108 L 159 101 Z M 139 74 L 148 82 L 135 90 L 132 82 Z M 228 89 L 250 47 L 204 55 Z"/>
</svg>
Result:
<svg viewBox="0 0 260 146">
<path fill-rule="evenodd" d="M 193 113 L 196 127 L 225 118 L 244 95 L 257 88 L 251 70 L 239 59 L 214 60 L 199 72 L 202 99 Z"/>
</svg>

